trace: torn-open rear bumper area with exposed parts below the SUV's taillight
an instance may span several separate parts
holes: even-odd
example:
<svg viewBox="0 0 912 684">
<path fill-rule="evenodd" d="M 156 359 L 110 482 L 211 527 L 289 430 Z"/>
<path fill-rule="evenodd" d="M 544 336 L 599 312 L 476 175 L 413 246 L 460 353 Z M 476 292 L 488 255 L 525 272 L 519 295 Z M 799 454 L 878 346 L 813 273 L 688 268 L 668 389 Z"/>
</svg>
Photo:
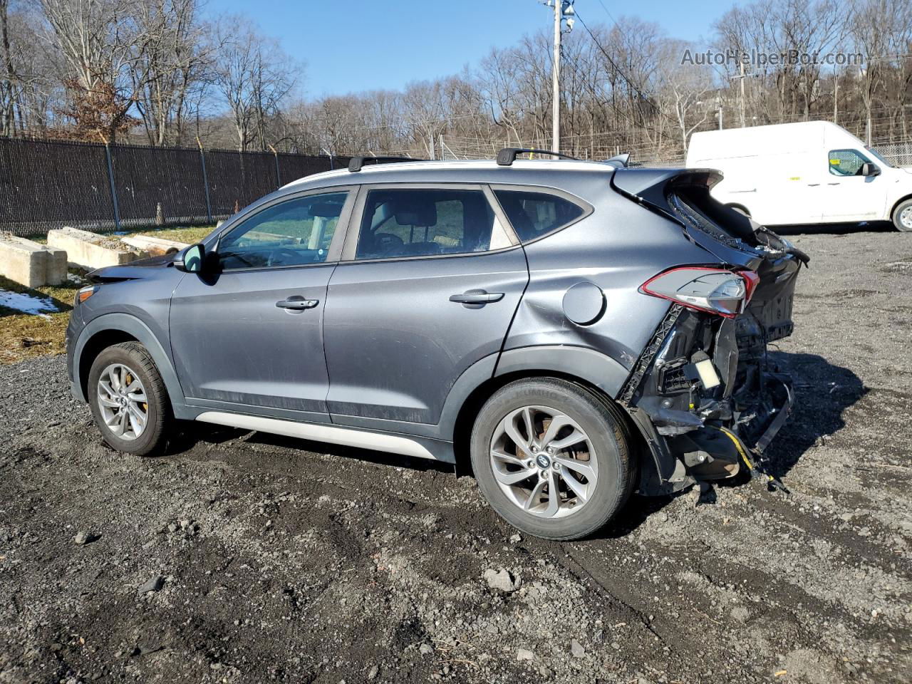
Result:
<svg viewBox="0 0 912 684">
<path fill-rule="evenodd" d="M 771 337 L 791 334 L 787 297 L 787 311 L 765 318 L 753 307 L 736 318 L 669 308 L 619 397 L 656 466 L 641 469 L 640 493 L 762 470 L 793 406 L 791 378 L 766 353 Z"/>
</svg>

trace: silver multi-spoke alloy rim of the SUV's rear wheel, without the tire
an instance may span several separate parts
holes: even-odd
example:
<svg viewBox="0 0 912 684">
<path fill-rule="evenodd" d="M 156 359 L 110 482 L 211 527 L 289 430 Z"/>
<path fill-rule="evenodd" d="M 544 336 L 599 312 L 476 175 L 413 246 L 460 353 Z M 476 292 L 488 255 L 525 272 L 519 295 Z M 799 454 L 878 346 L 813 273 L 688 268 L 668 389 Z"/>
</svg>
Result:
<svg viewBox="0 0 912 684">
<path fill-rule="evenodd" d="M 526 513 L 564 517 L 579 511 L 596 490 L 592 442 L 569 416 L 544 406 L 508 413 L 491 440 L 494 479 Z"/>
</svg>

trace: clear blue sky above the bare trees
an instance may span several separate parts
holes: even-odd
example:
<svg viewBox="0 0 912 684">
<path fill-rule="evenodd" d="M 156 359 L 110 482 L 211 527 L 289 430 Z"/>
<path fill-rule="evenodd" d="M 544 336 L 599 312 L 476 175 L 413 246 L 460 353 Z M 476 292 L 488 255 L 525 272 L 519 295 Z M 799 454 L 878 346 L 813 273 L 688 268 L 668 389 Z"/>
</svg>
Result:
<svg viewBox="0 0 912 684">
<path fill-rule="evenodd" d="M 657 22 L 668 36 L 698 40 L 732 0 L 619 3 L 576 0 L 590 26 L 635 15 Z M 212 15 L 242 13 L 306 63 L 307 97 L 368 89 L 399 89 L 409 81 L 457 73 L 491 47 L 512 45 L 548 26 L 537 0 L 209 0 Z M 583 30 L 576 26 L 575 30 Z"/>
</svg>

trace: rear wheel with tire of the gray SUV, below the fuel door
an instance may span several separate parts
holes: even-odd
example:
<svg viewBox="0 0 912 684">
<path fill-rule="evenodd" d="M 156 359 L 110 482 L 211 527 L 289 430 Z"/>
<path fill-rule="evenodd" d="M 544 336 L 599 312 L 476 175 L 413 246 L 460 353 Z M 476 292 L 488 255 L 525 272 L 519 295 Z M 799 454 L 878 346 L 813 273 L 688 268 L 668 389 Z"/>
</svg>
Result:
<svg viewBox="0 0 912 684">
<path fill-rule="evenodd" d="M 633 468 L 622 421 L 556 378 L 512 382 L 472 428 L 472 468 L 494 511 L 524 533 L 578 539 L 627 501 Z"/>
</svg>

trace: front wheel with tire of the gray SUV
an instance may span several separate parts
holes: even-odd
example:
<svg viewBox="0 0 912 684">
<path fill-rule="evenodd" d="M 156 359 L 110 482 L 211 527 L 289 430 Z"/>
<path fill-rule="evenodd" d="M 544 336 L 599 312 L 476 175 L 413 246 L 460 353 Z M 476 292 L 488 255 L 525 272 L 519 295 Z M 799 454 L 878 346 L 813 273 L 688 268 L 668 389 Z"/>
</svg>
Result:
<svg viewBox="0 0 912 684">
<path fill-rule="evenodd" d="M 88 406 L 103 440 L 137 456 L 163 451 L 171 423 L 168 393 L 146 347 L 108 347 L 88 372 Z"/>
</svg>

